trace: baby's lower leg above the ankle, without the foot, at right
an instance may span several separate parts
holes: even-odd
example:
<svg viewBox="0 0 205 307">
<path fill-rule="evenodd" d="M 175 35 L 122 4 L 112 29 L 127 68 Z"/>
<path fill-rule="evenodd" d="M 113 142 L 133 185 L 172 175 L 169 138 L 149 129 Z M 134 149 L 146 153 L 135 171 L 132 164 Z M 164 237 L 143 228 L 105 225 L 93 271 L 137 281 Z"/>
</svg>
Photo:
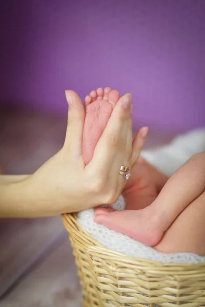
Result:
<svg viewBox="0 0 205 307">
<path fill-rule="evenodd" d="M 165 230 L 204 191 L 204 174 L 205 152 L 201 152 L 183 164 L 162 188 L 150 208 L 159 215 Z"/>
</svg>

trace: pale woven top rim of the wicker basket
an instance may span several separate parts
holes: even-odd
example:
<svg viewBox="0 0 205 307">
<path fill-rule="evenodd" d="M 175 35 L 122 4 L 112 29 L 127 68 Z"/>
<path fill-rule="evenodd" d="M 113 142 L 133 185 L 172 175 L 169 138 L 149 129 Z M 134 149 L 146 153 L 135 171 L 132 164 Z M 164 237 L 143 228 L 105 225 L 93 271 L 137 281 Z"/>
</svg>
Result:
<svg viewBox="0 0 205 307">
<path fill-rule="evenodd" d="M 184 263 L 179 263 L 179 262 L 160 262 L 160 261 L 156 261 L 156 260 L 149 260 L 149 259 L 145 259 L 145 258 L 139 258 L 139 257 L 133 257 L 133 256 L 129 256 L 126 255 L 124 253 L 120 253 L 120 252 L 116 252 L 112 249 L 109 249 L 105 246 L 103 246 L 102 244 L 100 244 L 99 242 L 97 242 L 86 230 L 82 229 L 79 224 L 77 223 L 77 212 L 74 213 L 64 213 L 61 214 L 62 220 L 63 220 L 63 224 L 65 226 L 65 228 L 67 229 L 67 223 L 68 223 L 68 219 L 71 219 L 74 224 L 75 224 L 75 228 L 76 230 L 80 229 L 81 232 L 83 232 L 85 234 L 85 236 L 89 237 L 89 240 L 93 243 L 93 246 L 89 247 L 88 250 L 90 251 L 100 251 L 101 253 L 110 253 L 111 257 L 113 256 L 117 256 L 117 257 L 124 257 L 126 259 L 129 259 L 129 261 L 136 263 L 136 262 L 144 262 L 147 265 L 154 265 L 156 268 L 156 264 L 158 264 L 159 267 L 175 267 L 180 270 L 182 270 L 182 267 L 184 267 L 185 269 L 187 268 L 191 268 L 193 267 L 193 269 L 198 269 L 198 268 L 203 268 L 205 269 L 205 262 L 200 262 L 198 264 L 184 264 Z M 68 229 L 67 229 L 68 230 Z"/>
</svg>

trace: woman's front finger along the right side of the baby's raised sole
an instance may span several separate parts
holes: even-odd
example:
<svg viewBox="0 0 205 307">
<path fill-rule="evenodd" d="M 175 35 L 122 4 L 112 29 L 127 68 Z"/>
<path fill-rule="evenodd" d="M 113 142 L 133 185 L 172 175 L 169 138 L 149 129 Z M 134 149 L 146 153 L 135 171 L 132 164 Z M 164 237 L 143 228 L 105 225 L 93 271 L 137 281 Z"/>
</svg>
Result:
<svg viewBox="0 0 205 307">
<path fill-rule="evenodd" d="M 126 94 L 118 100 L 104 133 L 95 147 L 93 159 L 87 165 L 92 167 L 94 164 L 95 171 L 100 172 L 101 176 L 103 174 L 108 176 L 116 155 L 121 154 L 121 148 L 125 142 L 122 139 L 122 130 L 125 129 L 125 122 L 128 121 L 130 105 L 131 94 Z"/>
</svg>

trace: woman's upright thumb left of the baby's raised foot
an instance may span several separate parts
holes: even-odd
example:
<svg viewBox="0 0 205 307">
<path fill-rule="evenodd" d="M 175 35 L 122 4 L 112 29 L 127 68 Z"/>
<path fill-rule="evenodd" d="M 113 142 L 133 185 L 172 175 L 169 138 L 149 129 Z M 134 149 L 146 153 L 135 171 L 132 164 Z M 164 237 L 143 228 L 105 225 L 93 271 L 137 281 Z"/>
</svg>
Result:
<svg viewBox="0 0 205 307">
<path fill-rule="evenodd" d="M 72 146 L 72 152 L 81 155 L 85 110 L 81 99 L 75 92 L 66 91 L 66 99 L 69 105 L 69 112 L 64 148 L 70 150 Z"/>
</svg>

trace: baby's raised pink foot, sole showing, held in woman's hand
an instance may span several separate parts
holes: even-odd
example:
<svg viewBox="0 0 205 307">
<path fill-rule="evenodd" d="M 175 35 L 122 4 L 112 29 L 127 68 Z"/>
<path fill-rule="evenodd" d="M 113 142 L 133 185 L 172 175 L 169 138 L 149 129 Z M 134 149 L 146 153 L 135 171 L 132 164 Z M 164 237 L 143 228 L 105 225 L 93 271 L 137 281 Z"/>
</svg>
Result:
<svg viewBox="0 0 205 307">
<path fill-rule="evenodd" d="M 106 87 L 105 91 L 100 87 L 96 92 L 92 91 L 85 98 L 83 155 L 86 164 L 92 159 L 95 146 L 119 100 L 119 92 L 111 91 L 110 87 Z"/>
</svg>

